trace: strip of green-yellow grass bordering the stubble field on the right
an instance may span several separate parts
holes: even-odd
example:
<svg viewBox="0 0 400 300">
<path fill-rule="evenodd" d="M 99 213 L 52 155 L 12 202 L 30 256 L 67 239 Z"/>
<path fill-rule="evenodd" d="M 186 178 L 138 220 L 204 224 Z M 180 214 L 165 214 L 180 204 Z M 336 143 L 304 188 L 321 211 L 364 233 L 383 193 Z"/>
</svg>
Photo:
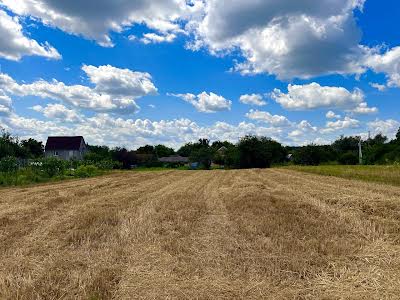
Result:
<svg viewBox="0 0 400 300">
<path fill-rule="evenodd" d="M 400 166 L 289 166 L 287 169 L 319 174 L 325 176 L 336 176 L 347 179 L 357 179 L 369 182 L 378 182 L 400 186 Z"/>
</svg>

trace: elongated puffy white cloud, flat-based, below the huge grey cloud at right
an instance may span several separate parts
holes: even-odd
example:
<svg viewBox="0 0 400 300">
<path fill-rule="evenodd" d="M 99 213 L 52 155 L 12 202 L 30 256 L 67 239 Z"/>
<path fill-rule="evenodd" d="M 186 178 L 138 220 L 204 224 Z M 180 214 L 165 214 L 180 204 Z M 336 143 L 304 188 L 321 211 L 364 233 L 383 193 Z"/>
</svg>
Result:
<svg viewBox="0 0 400 300">
<path fill-rule="evenodd" d="M 368 108 L 360 89 L 350 92 L 343 87 L 321 86 L 316 82 L 307 85 L 289 84 L 287 94 L 275 89 L 271 98 L 288 110 L 333 108 L 355 113 L 371 113 L 377 110 Z"/>
</svg>

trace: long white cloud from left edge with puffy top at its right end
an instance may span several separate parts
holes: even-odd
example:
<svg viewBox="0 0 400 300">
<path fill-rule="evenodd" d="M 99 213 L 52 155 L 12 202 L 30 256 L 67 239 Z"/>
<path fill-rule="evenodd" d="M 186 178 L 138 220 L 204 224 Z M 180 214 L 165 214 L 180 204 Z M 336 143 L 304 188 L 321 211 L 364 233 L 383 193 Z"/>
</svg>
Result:
<svg viewBox="0 0 400 300">
<path fill-rule="evenodd" d="M 7 74 L 0 73 L 0 89 L 18 96 L 37 96 L 62 101 L 77 108 L 130 114 L 138 111 L 136 100 L 154 95 L 157 88 L 148 73 L 133 72 L 112 66 L 83 66 L 95 87 L 66 85 L 53 80 L 19 84 Z"/>
</svg>

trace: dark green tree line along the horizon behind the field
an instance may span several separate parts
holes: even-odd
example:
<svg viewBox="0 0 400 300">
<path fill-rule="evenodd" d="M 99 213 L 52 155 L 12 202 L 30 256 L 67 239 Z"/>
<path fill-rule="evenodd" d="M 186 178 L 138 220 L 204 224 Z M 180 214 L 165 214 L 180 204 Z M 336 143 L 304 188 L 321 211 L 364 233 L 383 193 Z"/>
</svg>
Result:
<svg viewBox="0 0 400 300">
<path fill-rule="evenodd" d="M 210 142 L 199 139 L 174 150 L 165 145 L 145 145 L 136 150 L 123 147 L 88 146 L 88 153 L 79 164 L 93 165 L 99 169 L 130 169 L 132 167 L 162 167 L 161 157 L 179 155 L 188 157 L 199 168 L 210 169 L 213 165 L 225 168 L 268 168 L 272 165 L 344 164 L 359 163 L 358 136 L 341 136 L 330 145 L 310 144 L 301 147 L 283 146 L 281 143 L 258 136 L 245 136 L 236 144 L 227 141 Z M 363 164 L 400 163 L 400 129 L 395 139 L 389 141 L 382 134 L 361 142 Z M 0 134 L 0 161 L 43 159 L 43 143 L 35 139 L 19 140 L 2 130 Z M 72 164 L 78 162 L 72 162 Z M 4 165 L 5 163 L 0 163 Z M 176 167 L 177 165 L 169 165 Z M 77 165 L 75 165 L 76 167 Z M 1 172 L 1 170 L 0 170 Z"/>
</svg>

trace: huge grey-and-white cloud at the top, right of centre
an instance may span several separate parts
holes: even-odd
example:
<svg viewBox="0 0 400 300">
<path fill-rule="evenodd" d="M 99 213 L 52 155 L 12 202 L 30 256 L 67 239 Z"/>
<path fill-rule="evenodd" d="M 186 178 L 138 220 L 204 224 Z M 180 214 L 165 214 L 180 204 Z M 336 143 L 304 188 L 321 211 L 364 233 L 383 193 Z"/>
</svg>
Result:
<svg viewBox="0 0 400 300">
<path fill-rule="evenodd" d="M 268 73 L 281 79 L 323 74 L 360 74 L 367 49 L 353 10 L 363 0 L 207 1 L 205 17 L 192 22 L 192 49 L 211 53 L 241 50 L 236 66 L 244 74 Z"/>
</svg>

